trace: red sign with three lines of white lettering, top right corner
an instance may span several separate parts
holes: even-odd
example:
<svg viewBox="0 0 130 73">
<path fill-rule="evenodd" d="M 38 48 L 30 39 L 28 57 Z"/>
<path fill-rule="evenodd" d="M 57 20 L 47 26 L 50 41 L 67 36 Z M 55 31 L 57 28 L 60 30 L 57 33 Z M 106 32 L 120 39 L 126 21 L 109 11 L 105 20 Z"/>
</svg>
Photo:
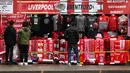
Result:
<svg viewBox="0 0 130 73">
<path fill-rule="evenodd" d="M 104 14 L 129 14 L 130 0 L 104 0 Z"/>
</svg>

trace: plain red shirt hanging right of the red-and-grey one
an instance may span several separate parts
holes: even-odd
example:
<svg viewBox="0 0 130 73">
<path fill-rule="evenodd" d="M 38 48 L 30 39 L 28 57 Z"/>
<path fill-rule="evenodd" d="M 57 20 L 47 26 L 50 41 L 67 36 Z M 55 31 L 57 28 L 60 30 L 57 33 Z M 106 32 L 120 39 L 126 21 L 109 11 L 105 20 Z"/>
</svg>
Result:
<svg viewBox="0 0 130 73">
<path fill-rule="evenodd" d="M 118 28 L 118 17 L 117 16 L 110 16 L 109 17 L 108 29 L 110 31 L 114 31 L 117 28 Z"/>
</svg>

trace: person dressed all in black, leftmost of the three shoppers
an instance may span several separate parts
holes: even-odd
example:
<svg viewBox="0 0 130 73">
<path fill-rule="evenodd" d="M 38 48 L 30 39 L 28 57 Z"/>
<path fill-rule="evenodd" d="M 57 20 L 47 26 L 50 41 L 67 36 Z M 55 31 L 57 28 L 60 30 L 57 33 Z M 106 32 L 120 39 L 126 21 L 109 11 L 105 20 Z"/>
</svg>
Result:
<svg viewBox="0 0 130 73">
<path fill-rule="evenodd" d="M 16 30 L 13 27 L 14 21 L 9 21 L 9 25 L 6 27 L 4 32 L 4 41 L 6 45 L 6 64 L 13 63 L 13 47 L 16 44 Z M 9 61 L 8 61 L 8 57 Z"/>
</svg>

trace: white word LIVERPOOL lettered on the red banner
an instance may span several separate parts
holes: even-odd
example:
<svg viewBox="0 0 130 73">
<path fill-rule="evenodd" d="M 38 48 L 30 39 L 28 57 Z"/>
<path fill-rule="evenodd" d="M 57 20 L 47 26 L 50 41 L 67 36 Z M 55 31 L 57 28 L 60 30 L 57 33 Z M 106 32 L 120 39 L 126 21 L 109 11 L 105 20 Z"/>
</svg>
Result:
<svg viewBox="0 0 130 73">
<path fill-rule="evenodd" d="M 53 4 L 29 4 L 28 10 L 54 10 Z"/>
</svg>

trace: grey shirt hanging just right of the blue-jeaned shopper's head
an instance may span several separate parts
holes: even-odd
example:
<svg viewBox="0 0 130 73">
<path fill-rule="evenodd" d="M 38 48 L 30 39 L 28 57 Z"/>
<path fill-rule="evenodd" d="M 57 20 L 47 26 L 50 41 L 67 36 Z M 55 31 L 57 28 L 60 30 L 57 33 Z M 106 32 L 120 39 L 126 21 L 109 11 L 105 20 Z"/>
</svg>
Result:
<svg viewBox="0 0 130 73">
<path fill-rule="evenodd" d="M 86 17 L 83 15 L 79 15 L 75 17 L 76 19 L 76 28 L 78 31 L 85 31 L 86 26 Z"/>
</svg>

